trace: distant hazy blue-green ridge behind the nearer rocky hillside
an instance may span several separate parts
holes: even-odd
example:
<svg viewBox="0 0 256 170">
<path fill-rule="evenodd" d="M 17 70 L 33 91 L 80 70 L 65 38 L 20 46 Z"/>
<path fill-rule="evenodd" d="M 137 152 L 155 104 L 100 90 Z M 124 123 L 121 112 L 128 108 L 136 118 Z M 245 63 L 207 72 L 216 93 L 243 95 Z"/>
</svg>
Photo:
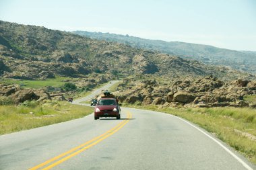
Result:
<svg viewBox="0 0 256 170">
<path fill-rule="evenodd" d="M 228 50 L 206 46 L 201 44 L 191 44 L 185 42 L 165 42 L 161 40 L 148 40 L 134 36 L 123 36 L 119 34 L 109 34 L 101 32 L 73 32 L 97 40 L 106 40 L 109 42 L 119 42 L 128 44 L 135 48 L 145 48 L 148 50 L 158 50 L 166 54 L 174 54 L 182 58 L 199 60 L 205 64 L 222 65 L 256 73 L 256 54 L 255 52 Z"/>
</svg>

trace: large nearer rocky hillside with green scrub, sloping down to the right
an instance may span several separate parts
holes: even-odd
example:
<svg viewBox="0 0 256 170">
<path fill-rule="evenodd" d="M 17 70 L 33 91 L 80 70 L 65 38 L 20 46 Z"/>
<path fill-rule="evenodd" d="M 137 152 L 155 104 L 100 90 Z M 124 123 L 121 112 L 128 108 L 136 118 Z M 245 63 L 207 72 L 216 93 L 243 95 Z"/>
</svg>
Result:
<svg viewBox="0 0 256 170">
<path fill-rule="evenodd" d="M 0 22 L 0 74 L 13 79 L 46 79 L 154 74 L 168 77 L 214 75 L 222 79 L 253 77 L 226 67 L 203 65 L 170 54 L 92 40 L 44 27 Z"/>
</svg>

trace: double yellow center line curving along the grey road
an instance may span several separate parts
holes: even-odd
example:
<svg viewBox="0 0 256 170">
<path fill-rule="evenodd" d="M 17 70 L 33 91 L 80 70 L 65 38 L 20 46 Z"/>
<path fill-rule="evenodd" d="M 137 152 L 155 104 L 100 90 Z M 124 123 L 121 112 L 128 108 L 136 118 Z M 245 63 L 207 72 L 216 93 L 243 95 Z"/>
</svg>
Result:
<svg viewBox="0 0 256 170">
<path fill-rule="evenodd" d="M 85 142 L 83 144 L 80 144 L 79 146 L 76 146 L 75 148 L 71 148 L 69 151 L 62 153 L 61 155 L 58 155 L 57 157 L 53 157 L 52 159 L 49 159 L 48 161 L 45 161 L 44 163 L 40 163 L 39 165 L 36 165 L 35 167 L 30 168 L 29 170 L 36 170 L 42 168 L 42 170 L 51 169 L 60 163 L 63 163 L 64 161 L 67 161 L 67 159 L 71 159 L 71 157 L 74 157 L 75 155 L 78 155 L 79 153 L 82 153 L 83 151 L 86 151 L 86 149 L 98 144 L 98 142 L 101 142 L 105 138 L 108 138 L 112 134 L 115 134 L 118 130 L 123 128 L 125 124 L 129 122 L 131 119 L 131 113 L 127 112 L 128 116 L 126 120 L 123 120 L 117 126 L 114 128 L 108 130 L 104 134 L 101 134 L 100 136 L 97 136 L 95 138 L 92 138 L 92 140 L 89 140 L 88 142 Z"/>
</svg>

